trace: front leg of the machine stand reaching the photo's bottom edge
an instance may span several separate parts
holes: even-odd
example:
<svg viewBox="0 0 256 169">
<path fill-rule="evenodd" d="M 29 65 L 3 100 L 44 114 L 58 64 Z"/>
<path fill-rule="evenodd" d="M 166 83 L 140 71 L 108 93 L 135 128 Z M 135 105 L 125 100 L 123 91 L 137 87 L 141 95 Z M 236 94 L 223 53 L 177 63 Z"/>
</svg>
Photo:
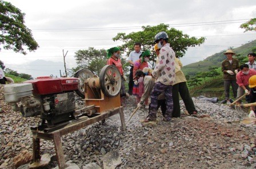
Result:
<svg viewBox="0 0 256 169">
<path fill-rule="evenodd" d="M 65 158 L 64 158 L 63 149 L 62 149 L 61 134 L 59 132 L 56 132 L 53 134 L 53 142 L 55 146 L 55 152 L 57 155 L 58 166 L 60 169 L 66 168 L 67 165 L 65 163 Z"/>
</svg>

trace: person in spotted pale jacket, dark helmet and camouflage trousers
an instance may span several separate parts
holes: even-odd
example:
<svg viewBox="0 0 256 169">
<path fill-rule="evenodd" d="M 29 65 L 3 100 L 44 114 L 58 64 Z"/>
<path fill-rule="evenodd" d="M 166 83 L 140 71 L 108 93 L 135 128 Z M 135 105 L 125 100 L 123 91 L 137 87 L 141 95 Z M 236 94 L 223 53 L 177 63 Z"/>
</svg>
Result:
<svg viewBox="0 0 256 169">
<path fill-rule="evenodd" d="M 155 43 L 158 43 L 158 48 L 161 48 L 159 53 L 159 63 L 155 66 L 152 76 L 155 77 L 155 85 L 151 93 L 151 106 L 149 116 L 141 122 L 147 123 L 157 120 L 157 97 L 162 92 L 166 98 L 166 113 L 163 117 L 164 121 L 171 120 L 171 112 L 173 112 L 173 97 L 172 87 L 175 83 L 175 52 L 168 43 L 168 35 L 166 32 L 159 32 L 155 35 Z"/>
</svg>

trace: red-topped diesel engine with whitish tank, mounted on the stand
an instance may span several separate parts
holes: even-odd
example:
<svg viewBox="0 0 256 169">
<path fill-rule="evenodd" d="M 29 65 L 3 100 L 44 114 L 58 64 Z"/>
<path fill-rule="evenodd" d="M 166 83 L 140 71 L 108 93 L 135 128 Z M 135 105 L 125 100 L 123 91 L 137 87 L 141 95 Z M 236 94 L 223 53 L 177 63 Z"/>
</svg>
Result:
<svg viewBox="0 0 256 169">
<path fill-rule="evenodd" d="M 5 85 L 5 101 L 11 103 L 13 110 L 21 111 L 23 117 L 39 115 L 47 126 L 54 126 L 74 119 L 74 91 L 78 84 L 75 77 L 38 77 L 22 84 Z"/>
</svg>

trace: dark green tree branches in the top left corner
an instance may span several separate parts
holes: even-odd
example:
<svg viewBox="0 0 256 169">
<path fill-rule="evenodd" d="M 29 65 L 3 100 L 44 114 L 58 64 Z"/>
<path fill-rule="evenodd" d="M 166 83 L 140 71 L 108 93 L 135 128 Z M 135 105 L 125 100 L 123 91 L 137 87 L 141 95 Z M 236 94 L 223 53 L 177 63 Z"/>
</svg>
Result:
<svg viewBox="0 0 256 169">
<path fill-rule="evenodd" d="M 31 51 L 37 50 L 31 30 L 25 26 L 25 14 L 10 2 L 0 0 L 0 47 L 21 52 L 26 55 L 24 46 Z"/>
</svg>

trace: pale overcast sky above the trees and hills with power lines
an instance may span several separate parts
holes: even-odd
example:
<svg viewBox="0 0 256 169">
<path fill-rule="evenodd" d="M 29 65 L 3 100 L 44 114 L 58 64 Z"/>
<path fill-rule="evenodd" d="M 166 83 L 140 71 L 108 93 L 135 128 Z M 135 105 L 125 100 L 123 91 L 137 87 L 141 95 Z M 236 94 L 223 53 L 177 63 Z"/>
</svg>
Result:
<svg viewBox="0 0 256 169">
<path fill-rule="evenodd" d="M 201 46 L 191 47 L 181 58 L 183 65 L 194 63 L 256 39 L 256 32 L 239 28 L 251 18 L 256 18 L 254 0 L 9 0 L 25 13 L 25 25 L 39 44 L 38 50 L 27 55 L 11 50 L 1 50 L 0 60 L 6 68 L 18 73 L 38 76 L 60 76 L 66 67 L 77 67 L 75 52 L 109 49 L 121 45 L 114 42 L 118 32 L 142 31 L 142 26 L 169 24 L 177 30 L 196 38 L 205 37 Z M 143 44 L 142 44 L 143 45 Z M 123 53 L 123 58 L 126 55 Z"/>
</svg>

